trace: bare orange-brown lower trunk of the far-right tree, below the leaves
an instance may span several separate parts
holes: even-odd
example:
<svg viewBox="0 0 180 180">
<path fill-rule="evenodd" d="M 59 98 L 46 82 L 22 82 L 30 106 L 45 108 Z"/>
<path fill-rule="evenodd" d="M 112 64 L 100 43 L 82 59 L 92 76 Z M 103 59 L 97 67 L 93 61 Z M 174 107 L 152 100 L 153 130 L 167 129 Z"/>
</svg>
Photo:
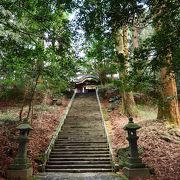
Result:
<svg viewBox="0 0 180 180">
<path fill-rule="evenodd" d="M 171 65 L 172 55 L 170 51 L 166 55 L 165 61 L 168 62 L 169 66 Z M 161 96 L 158 103 L 157 119 L 165 119 L 170 123 L 180 125 L 175 74 L 169 72 L 168 67 L 162 67 L 160 78 L 162 87 L 159 89 Z"/>
</svg>

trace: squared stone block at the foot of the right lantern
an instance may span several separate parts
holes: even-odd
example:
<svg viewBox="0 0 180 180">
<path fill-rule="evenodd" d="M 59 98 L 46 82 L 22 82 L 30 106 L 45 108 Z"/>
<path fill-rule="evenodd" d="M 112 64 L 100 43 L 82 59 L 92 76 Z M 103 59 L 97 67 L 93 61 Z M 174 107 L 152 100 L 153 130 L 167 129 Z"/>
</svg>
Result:
<svg viewBox="0 0 180 180">
<path fill-rule="evenodd" d="M 128 178 L 132 177 L 146 177 L 150 176 L 150 172 L 148 168 L 123 168 L 123 173 Z"/>
</svg>

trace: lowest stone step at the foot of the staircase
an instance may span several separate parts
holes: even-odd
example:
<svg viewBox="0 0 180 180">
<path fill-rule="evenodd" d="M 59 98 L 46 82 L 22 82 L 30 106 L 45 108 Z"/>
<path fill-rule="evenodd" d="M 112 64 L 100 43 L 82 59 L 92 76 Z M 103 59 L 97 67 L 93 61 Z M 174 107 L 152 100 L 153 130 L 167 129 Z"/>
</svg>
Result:
<svg viewBox="0 0 180 180">
<path fill-rule="evenodd" d="M 91 168 L 91 169 L 46 169 L 46 172 L 67 172 L 67 173 L 86 173 L 86 172 L 112 172 L 112 168 Z"/>
</svg>

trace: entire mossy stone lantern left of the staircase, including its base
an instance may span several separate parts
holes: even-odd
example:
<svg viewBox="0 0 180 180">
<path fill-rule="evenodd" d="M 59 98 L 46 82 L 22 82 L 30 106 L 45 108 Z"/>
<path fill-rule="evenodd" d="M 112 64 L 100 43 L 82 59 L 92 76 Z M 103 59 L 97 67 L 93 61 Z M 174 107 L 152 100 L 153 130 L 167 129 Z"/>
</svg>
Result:
<svg viewBox="0 0 180 180">
<path fill-rule="evenodd" d="M 33 173 L 31 162 L 27 157 L 28 135 L 32 127 L 27 122 L 24 122 L 20 124 L 17 129 L 20 131 L 19 137 L 17 138 L 19 142 L 18 153 L 14 162 L 7 170 L 7 177 L 8 179 L 25 180 L 29 179 Z"/>
</svg>

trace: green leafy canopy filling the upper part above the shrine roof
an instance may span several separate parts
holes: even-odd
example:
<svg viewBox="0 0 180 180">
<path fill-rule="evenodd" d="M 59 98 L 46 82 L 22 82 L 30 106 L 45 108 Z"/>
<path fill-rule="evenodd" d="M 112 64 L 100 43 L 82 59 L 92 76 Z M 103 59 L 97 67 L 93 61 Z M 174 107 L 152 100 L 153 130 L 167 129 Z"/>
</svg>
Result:
<svg viewBox="0 0 180 180">
<path fill-rule="evenodd" d="M 42 89 L 53 89 L 58 94 L 69 86 L 68 81 L 79 69 L 99 74 L 101 79 L 106 74 L 121 72 L 125 69 L 122 66 L 125 58 L 116 53 L 117 29 L 128 24 L 130 30 L 137 26 L 140 31 L 152 31 L 161 21 L 161 29 L 153 31 L 148 38 L 142 35 L 140 48 L 130 53 L 129 72 L 123 79 L 126 86 L 121 79 L 115 82 L 120 90 L 151 92 L 160 85 L 158 72 L 167 66 L 163 59 L 168 49 L 173 57 L 169 71 L 178 73 L 179 70 L 179 5 L 178 0 L 3 0 L 0 5 L 1 88 L 9 88 L 14 82 L 35 87 L 39 76 Z M 160 8 L 161 13 L 157 14 Z M 72 12 L 76 20 L 70 23 Z M 80 46 L 83 45 L 86 57 L 75 61 L 77 47 L 72 45 L 81 41 L 80 37 L 72 38 L 77 29 L 84 30 L 86 42 L 80 42 Z M 8 88 L 2 97 L 11 94 Z"/>
</svg>

